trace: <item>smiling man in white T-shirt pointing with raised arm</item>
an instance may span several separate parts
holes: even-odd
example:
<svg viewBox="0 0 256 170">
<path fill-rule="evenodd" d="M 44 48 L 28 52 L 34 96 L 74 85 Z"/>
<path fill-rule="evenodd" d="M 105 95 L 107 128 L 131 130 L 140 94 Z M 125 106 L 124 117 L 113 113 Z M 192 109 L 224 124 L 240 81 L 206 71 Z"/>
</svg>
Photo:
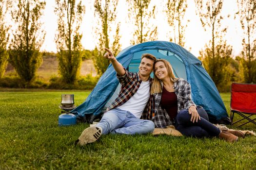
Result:
<svg viewBox="0 0 256 170">
<path fill-rule="evenodd" d="M 82 146 L 95 142 L 101 134 L 146 134 L 155 128 L 153 121 L 146 119 L 152 119 L 154 110 L 153 96 L 150 95 L 150 73 L 156 57 L 143 54 L 138 73 L 132 73 L 123 68 L 109 49 L 105 50 L 104 58 L 109 59 L 117 71 L 121 90 L 99 123 L 86 128 L 79 136 L 76 143 Z"/>
</svg>

